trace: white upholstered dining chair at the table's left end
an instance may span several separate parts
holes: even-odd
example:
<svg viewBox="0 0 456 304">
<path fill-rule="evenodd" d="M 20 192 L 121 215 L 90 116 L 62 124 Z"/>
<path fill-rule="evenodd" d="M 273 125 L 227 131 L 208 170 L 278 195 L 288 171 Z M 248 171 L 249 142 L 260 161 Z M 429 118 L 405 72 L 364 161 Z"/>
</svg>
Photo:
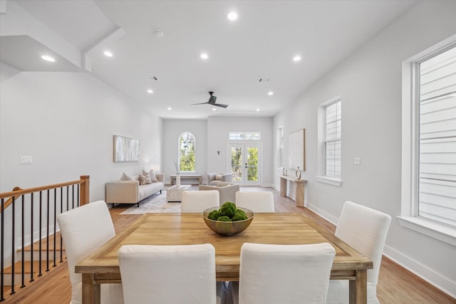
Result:
<svg viewBox="0 0 456 304">
<path fill-rule="evenodd" d="M 86 256 L 115 236 L 113 221 L 105 201 L 63 212 L 57 216 L 63 245 L 65 246 L 68 272 L 71 281 L 71 304 L 82 303 L 82 276 L 74 267 Z M 101 303 L 123 303 L 121 284 L 101 284 Z"/>
</svg>

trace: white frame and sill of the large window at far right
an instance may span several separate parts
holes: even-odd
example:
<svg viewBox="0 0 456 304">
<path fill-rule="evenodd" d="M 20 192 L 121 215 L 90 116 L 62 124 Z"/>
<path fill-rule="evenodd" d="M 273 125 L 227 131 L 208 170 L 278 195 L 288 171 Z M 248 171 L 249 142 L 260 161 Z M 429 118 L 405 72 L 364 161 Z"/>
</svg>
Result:
<svg viewBox="0 0 456 304">
<path fill-rule="evenodd" d="M 433 239 L 456 246 L 456 229 L 418 216 L 419 170 L 419 64 L 456 46 L 456 35 L 427 48 L 402 63 L 402 177 L 401 208 L 397 216 L 402 226 Z"/>
</svg>

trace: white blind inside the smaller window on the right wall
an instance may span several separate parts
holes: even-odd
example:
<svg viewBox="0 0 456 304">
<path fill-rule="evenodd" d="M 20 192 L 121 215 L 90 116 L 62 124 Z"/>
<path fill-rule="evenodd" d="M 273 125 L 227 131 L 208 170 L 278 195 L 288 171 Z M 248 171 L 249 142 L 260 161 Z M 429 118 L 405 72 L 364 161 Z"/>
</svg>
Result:
<svg viewBox="0 0 456 304">
<path fill-rule="evenodd" d="M 324 130 L 324 176 L 341 178 L 341 125 L 342 102 L 326 105 Z"/>
</svg>

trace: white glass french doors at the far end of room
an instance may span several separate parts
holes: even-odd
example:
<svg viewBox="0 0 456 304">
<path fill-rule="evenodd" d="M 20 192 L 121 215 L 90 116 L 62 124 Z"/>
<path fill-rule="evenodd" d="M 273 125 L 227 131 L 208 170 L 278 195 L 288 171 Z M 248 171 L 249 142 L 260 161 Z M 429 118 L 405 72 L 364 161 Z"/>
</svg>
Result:
<svg viewBox="0 0 456 304">
<path fill-rule="evenodd" d="M 261 184 L 261 145 L 228 144 L 232 182 L 243 186 Z"/>
</svg>

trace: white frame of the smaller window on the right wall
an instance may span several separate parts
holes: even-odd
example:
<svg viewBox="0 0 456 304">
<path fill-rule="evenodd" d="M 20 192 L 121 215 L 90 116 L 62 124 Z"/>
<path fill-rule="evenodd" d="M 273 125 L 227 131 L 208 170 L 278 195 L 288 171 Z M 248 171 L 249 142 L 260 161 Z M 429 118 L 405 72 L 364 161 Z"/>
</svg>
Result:
<svg viewBox="0 0 456 304">
<path fill-rule="evenodd" d="M 327 100 L 324 103 L 321 103 L 318 106 L 318 175 L 316 180 L 318 182 L 323 182 L 326 184 L 331 184 L 333 186 L 340 187 L 342 184 L 342 151 L 341 151 L 341 177 L 329 177 L 326 175 L 326 108 L 329 106 L 341 103 L 342 97 L 338 95 L 330 100 Z M 342 124 L 342 117 L 341 117 Z M 333 140 L 331 140 L 333 141 Z M 341 137 L 336 140 L 341 142 L 342 147 L 342 133 Z M 342 148 L 341 148 L 342 149 Z"/>
</svg>

